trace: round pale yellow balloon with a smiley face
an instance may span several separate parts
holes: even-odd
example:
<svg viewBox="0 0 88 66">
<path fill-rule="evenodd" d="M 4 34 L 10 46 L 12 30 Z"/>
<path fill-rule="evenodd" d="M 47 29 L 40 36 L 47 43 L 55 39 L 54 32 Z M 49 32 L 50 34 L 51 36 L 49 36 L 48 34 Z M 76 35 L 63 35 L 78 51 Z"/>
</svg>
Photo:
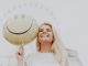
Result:
<svg viewBox="0 0 88 66">
<path fill-rule="evenodd" d="M 20 45 L 33 41 L 37 35 L 36 21 L 28 15 L 18 15 L 6 21 L 3 36 L 10 43 Z"/>
</svg>

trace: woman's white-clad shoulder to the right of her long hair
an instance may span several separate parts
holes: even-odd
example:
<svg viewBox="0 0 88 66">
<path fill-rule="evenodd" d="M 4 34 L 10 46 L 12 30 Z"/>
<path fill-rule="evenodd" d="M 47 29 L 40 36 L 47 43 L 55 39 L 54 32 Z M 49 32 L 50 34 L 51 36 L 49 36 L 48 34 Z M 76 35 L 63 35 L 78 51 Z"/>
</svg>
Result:
<svg viewBox="0 0 88 66">
<path fill-rule="evenodd" d="M 79 59 L 78 52 L 74 50 L 66 48 L 69 66 L 82 66 Z"/>
</svg>

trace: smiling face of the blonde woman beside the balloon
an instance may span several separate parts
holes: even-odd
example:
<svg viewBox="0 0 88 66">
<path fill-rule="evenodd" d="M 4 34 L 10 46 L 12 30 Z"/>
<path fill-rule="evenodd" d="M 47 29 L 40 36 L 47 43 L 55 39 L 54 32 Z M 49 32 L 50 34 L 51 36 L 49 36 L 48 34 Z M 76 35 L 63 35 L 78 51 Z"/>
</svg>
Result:
<svg viewBox="0 0 88 66">
<path fill-rule="evenodd" d="M 38 30 L 38 42 L 40 43 L 52 43 L 53 30 L 50 25 L 43 24 Z"/>
</svg>

